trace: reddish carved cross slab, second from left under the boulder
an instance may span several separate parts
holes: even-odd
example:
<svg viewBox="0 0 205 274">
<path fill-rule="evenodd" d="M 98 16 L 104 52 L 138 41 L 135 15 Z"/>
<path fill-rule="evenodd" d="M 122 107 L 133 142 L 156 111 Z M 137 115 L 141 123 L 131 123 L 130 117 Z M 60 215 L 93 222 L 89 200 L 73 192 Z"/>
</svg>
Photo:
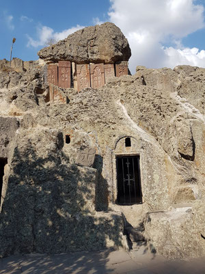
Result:
<svg viewBox="0 0 205 274">
<path fill-rule="evenodd" d="M 70 88 L 70 61 L 59 61 L 58 64 L 58 86 Z"/>
</svg>

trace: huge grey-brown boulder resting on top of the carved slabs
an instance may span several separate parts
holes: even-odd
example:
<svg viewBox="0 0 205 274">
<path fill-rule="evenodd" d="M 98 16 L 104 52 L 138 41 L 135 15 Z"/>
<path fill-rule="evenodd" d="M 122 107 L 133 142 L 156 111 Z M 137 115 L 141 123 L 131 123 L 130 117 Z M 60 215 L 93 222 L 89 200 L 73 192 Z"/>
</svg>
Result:
<svg viewBox="0 0 205 274">
<path fill-rule="evenodd" d="M 78 64 L 110 64 L 128 61 L 131 49 L 120 28 L 107 22 L 80 29 L 57 44 L 44 47 L 38 51 L 38 55 L 46 61 L 69 60 Z"/>
</svg>

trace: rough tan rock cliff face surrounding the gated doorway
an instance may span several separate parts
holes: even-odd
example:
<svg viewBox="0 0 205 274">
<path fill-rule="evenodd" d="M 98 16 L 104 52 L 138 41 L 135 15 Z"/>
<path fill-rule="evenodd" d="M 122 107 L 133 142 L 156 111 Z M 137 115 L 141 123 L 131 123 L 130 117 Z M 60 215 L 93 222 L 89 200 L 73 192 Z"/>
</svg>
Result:
<svg viewBox="0 0 205 274">
<path fill-rule="evenodd" d="M 12 138 L 0 142 L 1 256 L 120 247 L 121 212 L 152 251 L 205 255 L 205 69 L 138 66 L 51 104 L 42 60 L 22 71 L 2 62 L 0 121 L 11 119 Z M 92 167 L 76 164 L 82 147 L 96 149 Z M 143 203 L 115 203 L 116 155 L 139 155 Z"/>
</svg>

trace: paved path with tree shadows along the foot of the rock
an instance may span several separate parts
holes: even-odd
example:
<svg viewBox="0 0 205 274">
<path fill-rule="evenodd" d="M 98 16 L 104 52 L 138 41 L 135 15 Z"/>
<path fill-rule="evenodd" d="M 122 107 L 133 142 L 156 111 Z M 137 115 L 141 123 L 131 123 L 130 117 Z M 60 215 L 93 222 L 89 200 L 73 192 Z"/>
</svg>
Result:
<svg viewBox="0 0 205 274">
<path fill-rule="evenodd" d="M 1 259 L 0 273 L 204 274 L 205 260 L 168 261 L 144 247 L 131 253 L 104 250 L 60 255 L 27 254 Z"/>
</svg>

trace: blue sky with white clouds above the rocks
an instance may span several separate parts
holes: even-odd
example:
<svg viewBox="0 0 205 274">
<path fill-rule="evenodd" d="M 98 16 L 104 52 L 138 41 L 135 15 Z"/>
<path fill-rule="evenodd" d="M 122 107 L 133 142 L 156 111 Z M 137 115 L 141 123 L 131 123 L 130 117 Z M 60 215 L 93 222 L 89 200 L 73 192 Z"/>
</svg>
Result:
<svg viewBox="0 0 205 274">
<path fill-rule="evenodd" d="M 115 23 L 131 47 L 129 66 L 205 67 L 205 0 L 0 0 L 0 59 L 37 60 L 48 40 Z"/>
</svg>

